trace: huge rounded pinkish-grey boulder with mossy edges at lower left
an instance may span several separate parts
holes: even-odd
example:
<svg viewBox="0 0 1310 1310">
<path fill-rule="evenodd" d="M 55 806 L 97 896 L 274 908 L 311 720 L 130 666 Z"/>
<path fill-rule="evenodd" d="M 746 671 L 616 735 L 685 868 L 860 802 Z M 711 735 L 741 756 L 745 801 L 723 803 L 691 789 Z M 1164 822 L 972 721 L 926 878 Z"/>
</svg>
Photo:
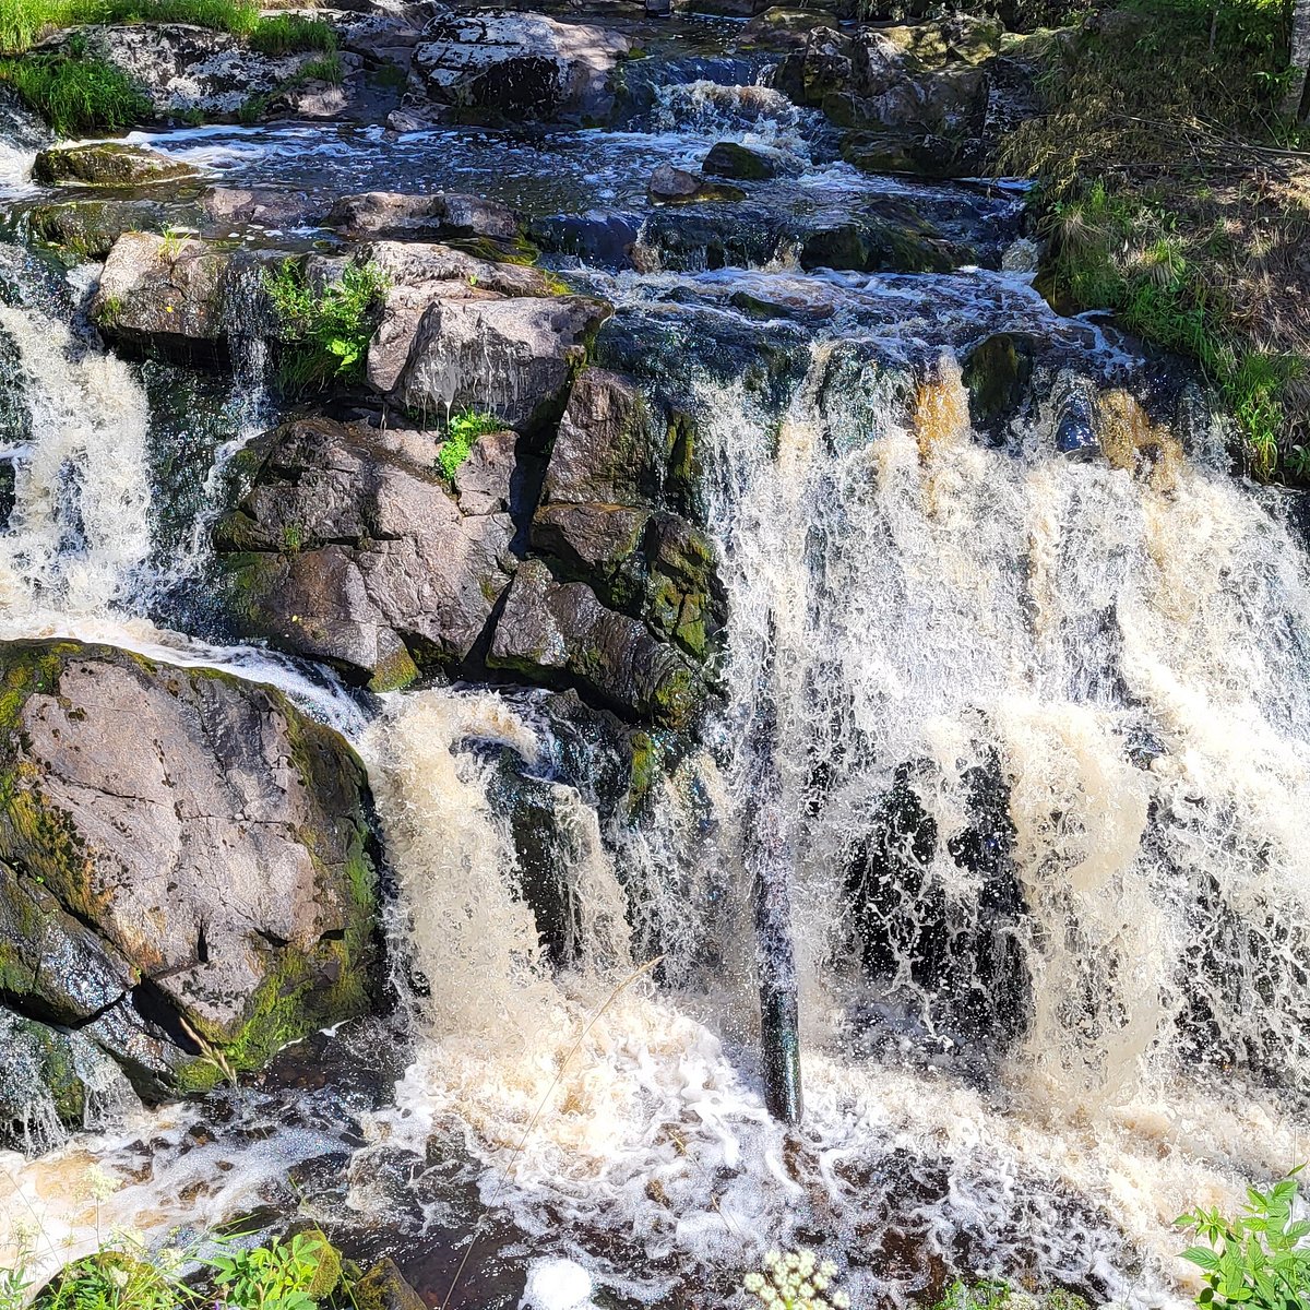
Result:
<svg viewBox="0 0 1310 1310">
<path fill-rule="evenodd" d="M 0 648 L 0 996 L 148 1096 L 261 1068 L 375 993 L 364 772 L 276 690 Z"/>
</svg>

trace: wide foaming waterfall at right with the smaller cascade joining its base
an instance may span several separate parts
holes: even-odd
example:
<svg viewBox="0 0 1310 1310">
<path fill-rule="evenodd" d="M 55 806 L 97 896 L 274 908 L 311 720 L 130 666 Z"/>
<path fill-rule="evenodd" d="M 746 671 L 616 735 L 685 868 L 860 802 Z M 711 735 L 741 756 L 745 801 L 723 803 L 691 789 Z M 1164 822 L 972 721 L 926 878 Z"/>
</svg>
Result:
<svg viewBox="0 0 1310 1310">
<path fill-rule="evenodd" d="M 696 383 L 727 705 L 645 825 L 561 850 L 610 907 L 576 972 L 542 967 L 489 802 L 486 743 L 540 758 L 531 724 L 430 692 L 372 730 L 431 992 L 392 1129 L 458 1123 L 485 1200 L 565 1254 L 605 1233 L 647 1298 L 662 1262 L 713 1277 L 817 1225 L 861 1296 L 900 1302 L 941 1259 L 1180 1306 L 1174 1214 L 1306 1145 L 1303 549 L 1204 432 L 1123 393 L 1108 457 L 1079 462 L 1055 403 L 981 443 L 948 355 L 910 422 L 891 375 L 854 392 L 834 362 L 816 346 L 781 415 Z M 770 717 L 806 1019 L 790 1146 L 761 1103 L 743 855 Z M 587 1030 L 650 943 L 672 981 Z"/>
</svg>

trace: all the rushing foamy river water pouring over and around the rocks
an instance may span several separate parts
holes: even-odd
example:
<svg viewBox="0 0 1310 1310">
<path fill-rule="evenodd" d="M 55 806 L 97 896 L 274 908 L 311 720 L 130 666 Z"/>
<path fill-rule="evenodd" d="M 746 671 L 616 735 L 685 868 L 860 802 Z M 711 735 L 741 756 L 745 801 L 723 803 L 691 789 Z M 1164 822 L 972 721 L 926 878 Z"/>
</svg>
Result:
<svg viewBox="0 0 1310 1310">
<path fill-rule="evenodd" d="M 403 169 L 534 216 L 645 221 L 652 164 L 724 138 L 786 156 L 778 203 L 807 214 L 963 194 L 865 178 L 776 93 L 713 76 L 614 134 L 136 135 L 236 185 L 342 194 Z M 992 200 L 1014 224 L 1014 196 Z M 79 335 L 85 276 L 0 307 L 25 406 L 0 451 L 4 635 L 228 668 L 345 732 L 394 874 L 400 996 L 261 1086 L 149 1112 L 106 1098 L 67 1142 L 46 1124 L 45 1154 L 0 1158 L 0 1260 L 21 1231 L 55 1264 L 113 1225 L 164 1241 L 300 1209 L 393 1252 L 435 1301 L 477 1230 L 456 1305 L 516 1303 L 542 1258 L 580 1263 L 608 1305 L 731 1300 L 794 1243 L 836 1259 L 857 1305 L 956 1272 L 1189 1303 L 1174 1216 L 1310 1154 L 1310 558 L 1289 507 L 1231 476 L 1199 396 L 1153 427 L 1134 396 L 1157 363 L 1020 271 L 561 265 L 616 303 L 616 335 L 679 360 L 728 591 L 722 709 L 631 820 L 562 762 L 546 693 L 367 697 L 221 639 L 204 529 L 227 461 L 275 417 L 258 343 L 229 392 L 165 418 L 173 375 Z M 740 293 L 782 309 L 761 326 Z M 959 363 L 996 330 L 1058 354 L 1001 438 L 971 430 Z M 749 334 L 795 365 L 768 394 L 720 348 Z M 1089 377 L 1120 388 L 1107 458 L 1061 445 Z M 186 458 L 161 458 L 168 441 Z M 800 980 L 795 1132 L 757 1072 L 745 853 L 765 724 Z M 516 891 L 504 752 L 549 787 L 567 967 Z M 107 1200 L 79 1199 L 92 1162 L 121 1183 Z"/>
</svg>

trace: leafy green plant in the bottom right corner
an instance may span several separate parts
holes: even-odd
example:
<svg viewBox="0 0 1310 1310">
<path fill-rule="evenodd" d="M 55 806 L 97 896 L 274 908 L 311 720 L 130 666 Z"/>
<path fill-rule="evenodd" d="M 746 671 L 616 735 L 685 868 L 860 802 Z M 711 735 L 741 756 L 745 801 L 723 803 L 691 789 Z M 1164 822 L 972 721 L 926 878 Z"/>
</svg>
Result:
<svg viewBox="0 0 1310 1310">
<path fill-rule="evenodd" d="M 1189 1246 L 1183 1259 L 1205 1277 L 1200 1306 L 1248 1306 L 1251 1310 L 1305 1310 L 1310 1305 L 1310 1220 L 1298 1220 L 1298 1166 L 1268 1192 L 1246 1191 L 1246 1205 L 1233 1218 L 1197 1207 L 1175 1224 L 1205 1244 Z"/>
</svg>

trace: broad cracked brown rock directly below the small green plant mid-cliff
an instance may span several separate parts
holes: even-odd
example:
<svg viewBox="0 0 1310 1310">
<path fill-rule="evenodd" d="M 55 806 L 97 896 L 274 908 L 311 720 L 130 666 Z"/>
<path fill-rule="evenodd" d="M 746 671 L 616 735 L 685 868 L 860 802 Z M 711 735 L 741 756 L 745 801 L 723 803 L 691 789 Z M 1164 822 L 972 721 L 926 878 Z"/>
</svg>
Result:
<svg viewBox="0 0 1310 1310">
<path fill-rule="evenodd" d="M 456 496 L 427 434 L 301 419 L 259 439 L 215 528 L 240 629 L 379 690 L 460 665 L 515 567 L 515 441 L 481 438 Z"/>
</svg>

